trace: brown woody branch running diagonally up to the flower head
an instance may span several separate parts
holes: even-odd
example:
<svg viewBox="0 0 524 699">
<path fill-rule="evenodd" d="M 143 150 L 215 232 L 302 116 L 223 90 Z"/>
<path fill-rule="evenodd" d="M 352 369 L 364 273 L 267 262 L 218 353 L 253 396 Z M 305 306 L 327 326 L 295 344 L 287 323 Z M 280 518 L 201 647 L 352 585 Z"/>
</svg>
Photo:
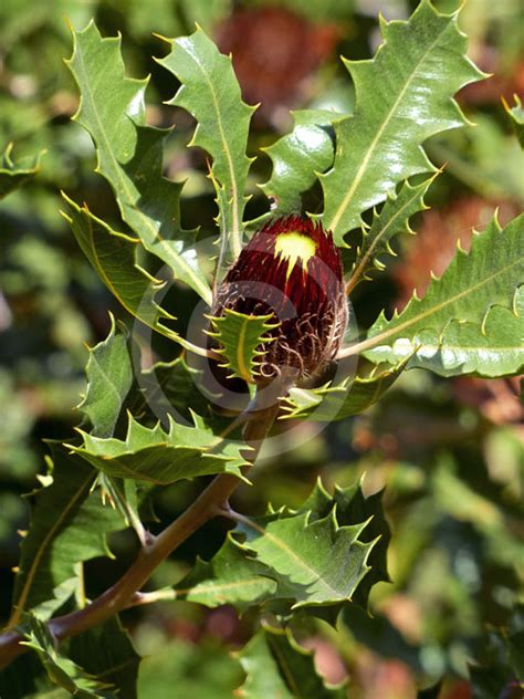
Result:
<svg viewBox="0 0 524 699">
<path fill-rule="evenodd" d="M 279 413 L 279 397 L 283 395 L 284 388 L 283 382 L 273 382 L 273 385 L 266 387 L 264 392 L 264 403 L 261 404 L 255 398 L 245 414 L 243 437 L 251 447 L 251 450 L 245 453 L 250 463 L 256 460 L 263 440 L 274 422 Z M 117 583 L 84 608 L 55 617 L 48 623 L 56 641 L 76 636 L 126 607 L 133 606 L 136 593 L 149 580 L 158 565 L 202 524 L 222 514 L 229 497 L 240 483 L 241 480 L 237 476 L 230 473 L 217 476 L 178 519 L 157 536 L 148 538 L 136 561 Z M 0 635 L 0 669 L 28 650 L 20 643 L 23 640 L 23 636 L 13 630 Z"/>
</svg>

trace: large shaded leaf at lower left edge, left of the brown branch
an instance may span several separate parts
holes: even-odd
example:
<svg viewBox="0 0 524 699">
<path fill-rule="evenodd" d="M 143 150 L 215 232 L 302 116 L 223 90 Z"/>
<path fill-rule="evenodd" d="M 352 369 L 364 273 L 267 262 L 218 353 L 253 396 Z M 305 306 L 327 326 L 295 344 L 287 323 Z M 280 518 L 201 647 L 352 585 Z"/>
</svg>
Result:
<svg viewBox="0 0 524 699">
<path fill-rule="evenodd" d="M 49 618 L 78 587 L 77 563 L 112 556 L 106 535 L 126 525 L 103 504 L 99 491 L 92 491 L 96 476 L 82 459 L 52 447 L 52 481 L 33 495 L 10 624 L 17 624 L 25 609 Z"/>
</svg>

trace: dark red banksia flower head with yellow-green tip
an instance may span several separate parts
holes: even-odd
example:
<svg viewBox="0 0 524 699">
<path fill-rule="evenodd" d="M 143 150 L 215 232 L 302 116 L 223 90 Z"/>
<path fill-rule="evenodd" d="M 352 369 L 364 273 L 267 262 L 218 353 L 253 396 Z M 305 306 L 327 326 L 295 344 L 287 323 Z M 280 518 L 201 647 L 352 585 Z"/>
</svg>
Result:
<svg viewBox="0 0 524 699">
<path fill-rule="evenodd" d="M 212 314 L 226 309 L 273 314 L 279 323 L 259 348 L 260 382 L 319 372 L 335 357 L 347 324 L 343 265 L 332 234 L 298 216 L 264 226 L 217 290 Z"/>
</svg>

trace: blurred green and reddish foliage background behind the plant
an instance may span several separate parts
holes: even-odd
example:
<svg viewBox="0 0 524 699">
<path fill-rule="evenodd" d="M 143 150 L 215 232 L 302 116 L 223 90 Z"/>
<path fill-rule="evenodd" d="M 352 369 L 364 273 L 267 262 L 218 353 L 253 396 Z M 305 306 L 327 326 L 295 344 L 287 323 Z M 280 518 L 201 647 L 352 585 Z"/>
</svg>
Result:
<svg viewBox="0 0 524 699">
<path fill-rule="evenodd" d="M 93 170 L 94 149 L 71 116 L 77 106 L 63 64 L 71 54 L 67 23 L 91 18 L 106 35 L 120 31 L 129 73 L 151 74 L 149 122 L 176 124 L 168 140 L 166 173 L 188 178 L 184 189 L 187 227 L 213 230 L 216 205 L 201 154 L 185 149 L 193 124 L 163 105 L 177 85 L 151 56 L 163 42 L 198 21 L 233 62 L 244 98 L 261 102 L 251 140 L 259 159 L 250 173 L 249 213 L 265 208 L 255 182 L 266 179 L 270 160 L 260 150 L 291 126 L 290 108 L 350 109 L 354 94 L 338 60 L 373 55 L 379 41 L 377 14 L 406 18 L 416 0 L 3 0 L 0 3 L 0 148 L 13 144 L 14 159 L 45 150 L 39 175 L 0 204 L 0 566 L 1 616 L 9 611 L 11 567 L 19 533 L 28 522 L 21 495 L 36 486 L 46 452 L 42 439 L 66 438 L 77 422 L 74 406 L 84 387 L 85 344 L 105 337 L 108 310 L 125 317 L 102 288 L 60 216 L 60 190 L 85 200 L 101 218 L 118 215 L 108 186 Z M 453 9 L 454 2 L 436 2 Z M 524 22 L 520 0 L 469 0 L 461 25 L 470 55 L 493 76 L 462 91 L 459 101 L 475 127 L 449 132 L 428 144 L 436 165 L 446 164 L 431 194 L 432 209 L 417 221 L 418 237 L 404 241 L 399 257 L 377 283 L 357 289 L 353 303 L 361 326 L 387 305 L 404 304 L 413 288 L 423 291 L 430 270 L 440 273 L 455 240 L 468 247 L 472 227 L 482 228 L 499 208 L 501 222 L 522 209 L 524 161 L 501 104 L 524 92 Z M 319 191 L 305 198 L 308 210 Z M 188 316 L 192 294 L 179 291 L 177 315 Z M 158 342 L 160 358 L 172 348 Z M 407 373 L 382 403 L 365 416 L 328 426 L 308 440 L 303 426 L 292 453 L 265 459 L 255 487 L 241 489 L 237 508 L 261 512 L 268 501 L 293 507 L 321 474 L 345 486 L 366 473 L 368 492 L 386 486 L 392 528 L 391 584 L 371 595 L 373 619 L 355 613 L 336 636 L 311 622 L 300 638 L 317 649 L 331 681 L 349 676 L 352 697 L 409 699 L 416 684 L 430 686 L 442 674 L 439 696 L 482 693 L 497 658 L 501 682 L 507 664 L 494 634 L 522 625 L 524 427 L 518 380 L 443 380 Z M 181 511 L 201 484 L 165 489 L 156 497 L 160 521 Z M 220 523 L 205 526 L 166 563 L 155 585 L 172 584 L 197 553 L 220 544 Z M 116 561 L 88 564 L 94 595 L 116 580 L 134 555 L 133 538 L 112 542 Z M 241 674 L 229 657 L 250 634 L 249 618 L 229 608 L 207 612 L 166 603 L 127 613 L 125 623 L 147 656 L 140 671 L 143 697 L 230 697 Z M 468 663 L 481 665 L 468 678 Z M 493 665 L 494 667 L 494 665 Z M 483 675 L 488 672 L 488 675 Z M 486 690 L 488 692 L 488 690 Z M 429 696 L 429 695 L 428 695 Z M 437 693 L 433 696 L 437 697 Z"/>
</svg>

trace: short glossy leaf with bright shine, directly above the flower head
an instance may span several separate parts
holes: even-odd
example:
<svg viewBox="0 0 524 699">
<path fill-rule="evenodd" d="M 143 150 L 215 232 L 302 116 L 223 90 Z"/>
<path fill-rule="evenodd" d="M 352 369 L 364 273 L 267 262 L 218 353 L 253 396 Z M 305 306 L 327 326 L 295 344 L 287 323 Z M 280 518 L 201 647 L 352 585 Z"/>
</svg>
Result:
<svg viewBox="0 0 524 699">
<path fill-rule="evenodd" d="M 266 197 L 273 199 L 273 213 L 296 213 L 302 208 L 301 194 L 316 181 L 333 164 L 334 145 L 329 134 L 332 124 L 344 115 L 328 109 L 293 112 L 293 131 L 268 148 L 272 163 L 270 179 L 261 185 Z"/>
</svg>

